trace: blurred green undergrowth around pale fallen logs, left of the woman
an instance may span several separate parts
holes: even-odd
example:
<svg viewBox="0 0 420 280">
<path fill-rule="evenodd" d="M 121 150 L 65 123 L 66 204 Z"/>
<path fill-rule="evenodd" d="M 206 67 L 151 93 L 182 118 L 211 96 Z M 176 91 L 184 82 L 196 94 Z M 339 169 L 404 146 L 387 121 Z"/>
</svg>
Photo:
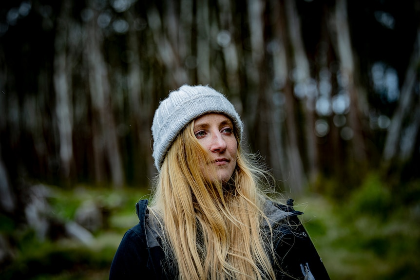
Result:
<svg viewBox="0 0 420 280">
<path fill-rule="evenodd" d="M 60 224 L 71 222 L 78 207 L 95 203 L 108 213 L 105 215 L 107 222 L 92 232 L 94 238 L 86 244 L 58 234 L 40 240 L 33 229 L 13 228 L 17 227 L 13 221 L 0 217 L 1 236 L 14 245 L 13 261 L 0 264 L 0 279 L 107 280 L 111 261 L 124 232 L 138 223 L 134 205 L 147 197 L 148 190 L 47 188 L 50 209 L 46 215 L 53 221 Z"/>
</svg>

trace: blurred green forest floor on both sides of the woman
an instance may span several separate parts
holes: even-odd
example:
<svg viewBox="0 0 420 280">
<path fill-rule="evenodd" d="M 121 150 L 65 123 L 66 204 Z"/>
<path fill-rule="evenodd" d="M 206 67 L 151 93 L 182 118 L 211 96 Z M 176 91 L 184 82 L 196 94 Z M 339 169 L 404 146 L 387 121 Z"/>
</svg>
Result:
<svg viewBox="0 0 420 280">
<path fill-rule="evenodd" d="M 391 193 L 371 178 L 340 202 L 319 194 L 295 198 L 331 279 L 408 280 L 420 274 L 420 203 L 399 205 Z M 106 223 L 84 244 L 74 239 L 39 241 L 30 230 L 14 231 L 14 261 L 0 266 L 0 279 L 107 280 L 115 250 L 124 232 L 137 224 L 134 204 L 147 189 L 120 190 L 51 187 L 51 211 L 61 220 L 75 219 L 77 209 L 95 202 L 106 209 Z M 1 221 L 4 232 L 4 219 Z M 7 221 L 6 221 L 7 222 Z M 9 228 L 9 232 L 12 229 Z"/>
</svg>

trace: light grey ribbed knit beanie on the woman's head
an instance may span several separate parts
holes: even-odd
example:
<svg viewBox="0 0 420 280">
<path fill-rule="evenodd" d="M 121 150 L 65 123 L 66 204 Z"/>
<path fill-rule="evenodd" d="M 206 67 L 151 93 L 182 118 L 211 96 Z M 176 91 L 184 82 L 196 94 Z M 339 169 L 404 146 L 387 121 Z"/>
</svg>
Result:
<svg viewBox="0 0 420 280">
<path fill-rule="evenodd" d="M 244 125 L 238 112 L 222 93 L 209 86 L 183 85 L 160 102 L 152 124 L 154 166 L 158 171 L 180 131 L 193 119 L 209 112 L 229 116 L 242 139 Z"/>
</svg>

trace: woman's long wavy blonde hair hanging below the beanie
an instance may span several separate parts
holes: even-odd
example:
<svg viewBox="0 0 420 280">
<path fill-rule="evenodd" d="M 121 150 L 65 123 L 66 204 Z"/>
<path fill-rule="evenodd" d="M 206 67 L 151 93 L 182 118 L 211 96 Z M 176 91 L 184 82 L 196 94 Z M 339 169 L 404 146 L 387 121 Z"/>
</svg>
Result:
<svg viewBox="0 0 420 280">
<path fill-rule="evenodd" d="M 232 179 L 209 182 L 214 173 L 193 125 L 168 151 L 149 208 L 161 225 L 167 261 L 180 280 L 275 279 L 268 257 L 273 241 L 261 230 L 267 220 L 263 169 L 250 163 L 238 142 Z"/>
</svg>

